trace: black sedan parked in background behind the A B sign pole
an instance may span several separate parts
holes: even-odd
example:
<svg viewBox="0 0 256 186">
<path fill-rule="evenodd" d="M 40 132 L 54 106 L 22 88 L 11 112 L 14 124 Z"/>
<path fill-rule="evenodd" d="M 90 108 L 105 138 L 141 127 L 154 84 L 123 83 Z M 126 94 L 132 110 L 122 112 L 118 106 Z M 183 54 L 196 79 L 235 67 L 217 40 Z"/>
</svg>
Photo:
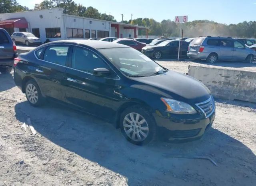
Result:
<svg viewBox="0 0 256 186">
<path fill-rule="evenodd" d="M 154 42 L 154 41 L 153 41 Z M 188 42 L 180 42 L 181 56 L 186 56 L 188 51 Z M 145 46 L 142 48 L 142 53 L 146 56 L 160 59 L 163 57 L 176 58 L 178 56 L 179 41 L 166 40 L 156 46 Z"/>
</svg>

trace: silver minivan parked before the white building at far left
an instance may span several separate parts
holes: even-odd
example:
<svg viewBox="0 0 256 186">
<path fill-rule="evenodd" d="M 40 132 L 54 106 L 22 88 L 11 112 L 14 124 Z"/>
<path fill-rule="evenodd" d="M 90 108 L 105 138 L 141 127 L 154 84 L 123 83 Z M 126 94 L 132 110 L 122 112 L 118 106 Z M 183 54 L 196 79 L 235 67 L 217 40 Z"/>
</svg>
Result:
<svg viewBox="0 0 256 186">
<path fill-rule="evenodd" d="M 34 34 L 30 32 L 14 32 L 12 34 L 12 40 L 14 43 L 22 43 L 26 44 L 26 46 L 29 45 L 37 45 L 39 46 L 42 44 L 40 38 L 37 38 Z"/>
</svg>

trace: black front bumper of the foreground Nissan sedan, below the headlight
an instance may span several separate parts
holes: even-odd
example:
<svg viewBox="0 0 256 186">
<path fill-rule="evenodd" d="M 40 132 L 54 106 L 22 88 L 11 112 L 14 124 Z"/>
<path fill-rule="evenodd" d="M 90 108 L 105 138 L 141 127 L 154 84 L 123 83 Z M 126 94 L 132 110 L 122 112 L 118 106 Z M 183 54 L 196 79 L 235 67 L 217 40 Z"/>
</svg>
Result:
<svg viewBox="0 0 256 186">
<path fill-rule="evenodd" d="M 163 140 L 170 142 L 187 142 L 202 138 L 215 119 L 215 110 L 206 118 L 200 114 L 183 115 L 160 112 L 153 114 L 158 126 L 158 134 Z"/>
</svg>

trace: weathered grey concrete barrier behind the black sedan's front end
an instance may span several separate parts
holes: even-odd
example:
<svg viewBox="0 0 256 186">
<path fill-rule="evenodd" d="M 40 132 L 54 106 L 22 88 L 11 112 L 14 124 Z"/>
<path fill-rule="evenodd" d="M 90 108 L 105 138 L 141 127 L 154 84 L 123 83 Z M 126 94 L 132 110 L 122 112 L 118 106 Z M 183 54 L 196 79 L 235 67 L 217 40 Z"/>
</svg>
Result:
<svg viewBox="0 0 256 186">
<path fill-rule="evenodd" d="M 188 75 L 205 84 L 216 98 L 256 103 L 256 72 L 188 66 Z"/>
</svg>

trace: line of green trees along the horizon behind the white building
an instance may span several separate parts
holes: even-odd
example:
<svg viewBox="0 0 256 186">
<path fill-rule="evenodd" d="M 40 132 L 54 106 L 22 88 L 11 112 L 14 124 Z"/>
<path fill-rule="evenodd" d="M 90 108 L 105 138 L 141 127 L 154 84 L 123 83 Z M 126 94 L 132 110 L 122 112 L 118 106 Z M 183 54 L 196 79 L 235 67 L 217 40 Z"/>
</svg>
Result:
<svg viewBox="0 0 256 186">
<path fill-rule="evenodd" d="M 0 13 L 12 13 L 28 11 L 26 6 L 21 6 L 16 0 L 0 0 Z M 114 16 L 100 13 L 92 6 L 85 7 L 77 4 L 74 0 L 44 0 L 35 4 L 34 10 L 63 8 L 64 14 L 81 17 L 88 17 L 100 20 L 116 22 Z M 149 35 L 177 37 L 179 36 L 179 25 L 172 20 L 162 20 L 157 22 L 152 18 L 137 18 L 135 20 L 124 20 L 127 24 L 138 24 L 150 28 Z M 256 21 L 242 22 L 238 24 L 220 24 L 209 20 L 195 20 L 184 23 L 182 26 L 184 37 L 196 36 L 230 36 L 238 38 L 256 38 Z M 139 30 L 139 35 L 146 35 L 145 30 Z"/>
</svg>

